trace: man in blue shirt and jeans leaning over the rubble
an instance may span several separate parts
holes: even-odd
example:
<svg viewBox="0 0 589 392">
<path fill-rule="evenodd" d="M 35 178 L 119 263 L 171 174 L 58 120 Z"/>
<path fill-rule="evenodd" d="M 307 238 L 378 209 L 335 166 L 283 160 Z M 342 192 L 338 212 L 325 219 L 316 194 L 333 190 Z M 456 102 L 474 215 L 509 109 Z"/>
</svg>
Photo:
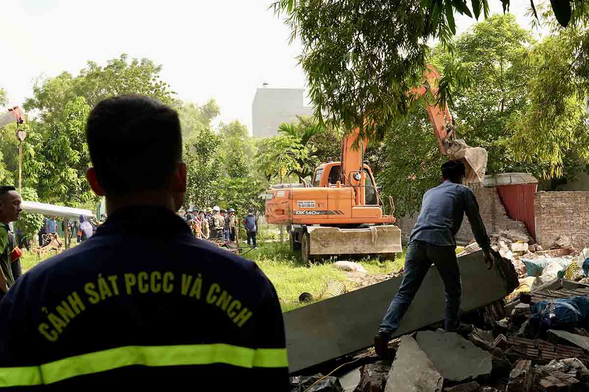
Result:
<svg viewBox="0 0 589 392">
<path fill-rule="evenodd" d="M 442 165 L 444 183 L 423 195 L 421 212 L 409 236 L 401 287 L 374 337 L 379 356 L 387 356 L 388 341 L 398 329 L 432 263 L 438 268 L 444 281 L 445 329 L 458 330 L 462 284 L 456 260 L 455 235 L 465 214 L 471 223 L 472 233 L 484 252 L 485 264 L 489 269 L 493 266 L 491 241 L 479 214 L 477 199 L 470 188 L 461 185 L 464 175 L 464 163 L 450 160 Z"/>
</svg>

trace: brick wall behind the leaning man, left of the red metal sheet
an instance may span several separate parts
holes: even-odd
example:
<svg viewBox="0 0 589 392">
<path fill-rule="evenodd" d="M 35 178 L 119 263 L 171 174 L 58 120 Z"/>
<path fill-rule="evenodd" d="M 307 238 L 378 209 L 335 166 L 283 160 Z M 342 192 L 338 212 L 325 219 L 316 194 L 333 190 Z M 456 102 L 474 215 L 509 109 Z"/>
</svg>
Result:
<svg viewBox="0 0 589 392">
<path fill-rule="evenodd" d="M 528 235 L 528 230 L 525 228 L 524 223 L 510 219 L 507 216 L 505 207 L 502 205 L 495 187 L 484 187 L 481 184 L 473 184 L 469 187 L 477 197 L 479 211 L 489 235 L 498 233 L 499 230 L 515 230 Z M 411 234 L 417 216 L 418 214 L 405 216 L 397 221 L 396 225 L 401 229 L 401 241 L 403 243 L 408 242 L 409 234 Z M 474 239 L 474 236 L 471 225 L 468 223 L 468 218 L 465 215 L 464 220 L 462 220 L 462 226 L 458 230 L 458 233 L 456 233 L 456 242 L 469 243 L 472 239 Z"/>
</svg>

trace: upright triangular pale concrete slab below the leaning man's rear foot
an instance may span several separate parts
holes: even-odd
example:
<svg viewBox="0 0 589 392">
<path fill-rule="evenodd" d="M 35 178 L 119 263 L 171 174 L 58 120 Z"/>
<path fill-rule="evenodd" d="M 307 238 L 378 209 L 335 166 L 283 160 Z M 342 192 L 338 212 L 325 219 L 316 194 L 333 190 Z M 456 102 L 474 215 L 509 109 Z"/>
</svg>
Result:
<svg viewBox="0 0 589 392">
<path fill-rule="evenodd" d="M 441 392 L 442 384 L 444 377 L 415 339 L 407 335 L 401 337 L 385 392 Z"/>
</svg>

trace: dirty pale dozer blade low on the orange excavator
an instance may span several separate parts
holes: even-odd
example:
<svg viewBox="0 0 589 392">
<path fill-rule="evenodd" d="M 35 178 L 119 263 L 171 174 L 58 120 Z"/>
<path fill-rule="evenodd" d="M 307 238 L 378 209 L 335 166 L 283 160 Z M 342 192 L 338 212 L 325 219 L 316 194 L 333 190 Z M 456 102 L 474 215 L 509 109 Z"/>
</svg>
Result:
<svg viewBox="0 0 589 392">
<path fill-rule="evenodd" d="M 309 226 L 310 254 L 400 253 L 401 229 L 393 225 L 364 229 Z"/>
</svg>

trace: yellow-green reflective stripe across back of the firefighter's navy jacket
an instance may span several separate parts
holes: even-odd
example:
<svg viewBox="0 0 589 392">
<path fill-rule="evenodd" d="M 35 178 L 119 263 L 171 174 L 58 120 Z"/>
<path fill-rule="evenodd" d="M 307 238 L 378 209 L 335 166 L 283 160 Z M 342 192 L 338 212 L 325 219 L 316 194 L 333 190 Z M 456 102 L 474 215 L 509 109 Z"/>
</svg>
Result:
<svg viewBox="0 0 589 392">
<path fill-rule="evenodd" d="M 125 366 L 181 366 L 224 363 L 253 368 L 287 367 L 286 349 L 249 349 L 230 344 L 125 346 L 30 367 L 0 368 L 0 387 L 52 384 L 71 377 Z"/>
</svg>

